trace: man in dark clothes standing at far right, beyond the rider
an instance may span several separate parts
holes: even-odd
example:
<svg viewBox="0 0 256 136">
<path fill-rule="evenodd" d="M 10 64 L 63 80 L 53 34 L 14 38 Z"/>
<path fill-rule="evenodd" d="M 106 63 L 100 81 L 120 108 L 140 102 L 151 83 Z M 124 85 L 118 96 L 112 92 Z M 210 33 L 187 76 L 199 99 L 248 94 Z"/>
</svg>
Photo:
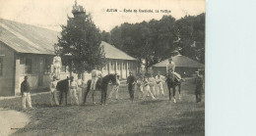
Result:
<svg viewBox="0 0 256 136">
<path fill-rule="evenodd" d="M 196 83 L 196 102 L 201 102 L 202 91 L 203 91 L 203 77 L 200 75 L 200 71 L 196 71 L 197 76 L 195 78 Z"/>
</svg>

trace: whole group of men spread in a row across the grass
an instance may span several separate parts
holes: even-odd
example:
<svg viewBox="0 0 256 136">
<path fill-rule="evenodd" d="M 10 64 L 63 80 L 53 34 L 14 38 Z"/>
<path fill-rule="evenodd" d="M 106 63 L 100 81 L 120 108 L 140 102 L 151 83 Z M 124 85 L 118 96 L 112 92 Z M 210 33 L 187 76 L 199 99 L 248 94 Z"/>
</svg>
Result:
<svg viewBox="0 0 256 136">
<path fill-rule="evenodd" d="M 170 58 L 168 60 L 168 64 L 166 65 L 166 73 L 167 76 L 169 76 L 171 79 L 174 80 L 174 78 L 181 79 L 180 75 L 175 72 L 175 64 L 172 62 L 172 59 Z M 96 90 L 96 81 L 98 78 L 101 77 L 101 72 L 99 70 L 94 69 L 92 71 L 92 84 L 91 84 L 91 90 Z M 21 94 L 23 97 L 22 106 L 23 109 L 26 109 L 26 102 L 29 104 L 29 108 L 32 109 L 32 101 L 31 101 L 31 87 L 30 83 L 28 81 L 28 76 L 25 76 L 25 80 L 21 84 Z M 59 82 L 63 82 L 64 85 L 57 85 L 57 77 L 53 76 L 52 81 L 50 83 L 50 101 L 51 105 L 60 105 L 62 102 L 62 97 L 64 95 L 65 98 L 65 104 L 67 104 L 67 95 L 68 92 L 70 92 L 71 97 L 71 104 L 75 103 L 76 105 L 79 105 L 79 99 L 77 95 L 77 91 L 79 89 L 78 83 L 74 80 L 74 76 L 71 76 L 70 79 L 67 78 L 65 80 L 61 80 Z M 128 92 L 130 95 L 130 100 L 134 101 L 134 91 L 138 91 L 141 94 L 141 98 L 145 99 L 146 96 L 150 96 L 152 99 L 156 99 L 158 96 L 163 96 L 163 88 L 162 88 L 162 82 L 164 82 L 164 76 L 160 75 L 160 71 L 158 72 L 158 75 L 156 77 L 153 76 L 153 74 L 150 77 L 144 77 L 140 76 L 138 79 L 132 74 L 131 71 L 129 71 L 129 76 L 127 77 L 127 86 L 128 86 Z M 195 78 L 196 83 L 196 89 L 195 89 L 195 95 L 196 95 L 196 102 L 201 102 L 201 95 L 203 90 L 203 77 L 200 73 L 200 71 L 197 71 L 197 76 Z M 118 99 L 118 90 L 119 90 L 119 75 L 116 75 L 116 84 L 113 85 L 112 90 L 110 91 L 109 98 L 112 97 L 113 94 L 115 94 L 115 98 Z M 60 91 L 59 99 L 57 97 L 57 90 Z M 93 91 L 95 93 L 95 91 Z M 180 98 L 180 96 L 179 96 Z M 58 101 L 59 100 L 59 101 Z"/>
</svg>

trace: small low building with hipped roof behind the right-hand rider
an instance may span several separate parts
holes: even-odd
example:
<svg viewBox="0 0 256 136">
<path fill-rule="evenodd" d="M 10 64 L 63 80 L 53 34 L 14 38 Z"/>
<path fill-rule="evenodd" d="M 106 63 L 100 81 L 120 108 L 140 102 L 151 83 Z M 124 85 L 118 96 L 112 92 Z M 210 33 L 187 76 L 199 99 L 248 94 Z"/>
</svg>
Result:
<svg viewBox="0 0 256 136">
<path fill-rule="evenodd" d="M 181 74 L 182 77 L 191 76 L 198 69 L 204 69 L 205 66 L 201 63 L 198 63 L 188 57 L 182 55 L 176 55 L 172 57 L 172 61 L 175 63 L 175 71 Z M 154 74 L 157 74 L 158 71 L 162 75 L 166 75 L 166 65 L 168 63 L 168 59 L 161 61 L 160 63 L 152 66 L 152 70 Z"/>
</svg>

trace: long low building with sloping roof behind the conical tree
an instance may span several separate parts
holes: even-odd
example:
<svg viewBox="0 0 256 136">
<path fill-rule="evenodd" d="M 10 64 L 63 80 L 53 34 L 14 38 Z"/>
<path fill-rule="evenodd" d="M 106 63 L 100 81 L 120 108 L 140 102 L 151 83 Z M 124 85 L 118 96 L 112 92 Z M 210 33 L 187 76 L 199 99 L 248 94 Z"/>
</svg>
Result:
<svg viewBox="0 0 256 136">
<path fill-rule="evenodd" d="M 0 96 L 20 94 L 20 85 L 26 75 L 30 76 L 32 89 L 48 87 L 55 56 L 53 45 L 59 34 L 58 31 L 0 19 Z M 129 70 L 136 72 L 136 59 L 106 42 L 101 42 L 100 46 L 103 46 L 107 59 L 102 68 L 104 75 L 118 73 L 126 78 Z M 69 68 L 62 66 L 60 78 L 67 76 Z"/>
</svg>

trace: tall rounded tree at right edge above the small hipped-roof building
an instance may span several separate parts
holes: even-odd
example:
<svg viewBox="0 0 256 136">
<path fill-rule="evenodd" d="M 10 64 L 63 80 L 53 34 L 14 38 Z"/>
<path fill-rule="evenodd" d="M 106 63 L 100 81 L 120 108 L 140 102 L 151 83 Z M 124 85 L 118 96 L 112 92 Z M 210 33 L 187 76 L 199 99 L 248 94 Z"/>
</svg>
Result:
<svg viewBox="0 0 256 136">
<path fill-rule="evenodd" d="M 191 59 L 205 63 L 205 14 L 186 16 L 175 23 L 174 28 L 180 53 Z M 191 46 L 195 44 L 194 46 Z"/>
</svg>

